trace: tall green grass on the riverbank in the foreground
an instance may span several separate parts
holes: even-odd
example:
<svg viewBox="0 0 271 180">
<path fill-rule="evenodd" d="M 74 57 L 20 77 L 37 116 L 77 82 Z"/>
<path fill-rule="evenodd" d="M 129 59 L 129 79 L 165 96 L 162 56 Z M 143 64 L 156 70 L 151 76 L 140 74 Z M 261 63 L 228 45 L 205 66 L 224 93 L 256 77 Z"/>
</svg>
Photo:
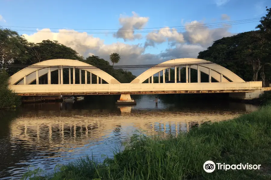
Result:
<svg viewBox="0 0 271 180">
<path fill-rule="evenodd" d="M 180 180 L 271 179 L 271 106 L 235 119 L 203 124 L 178 137 L 161 139 L 134 134 L 123 151 L 98 163 L 87 156 L 40 176 L 40 169 L 22 179 L 52 180 Z M 206 173 L 205 161 L 261 164 L 261 170 L 215 170 Z"/>
</svg>

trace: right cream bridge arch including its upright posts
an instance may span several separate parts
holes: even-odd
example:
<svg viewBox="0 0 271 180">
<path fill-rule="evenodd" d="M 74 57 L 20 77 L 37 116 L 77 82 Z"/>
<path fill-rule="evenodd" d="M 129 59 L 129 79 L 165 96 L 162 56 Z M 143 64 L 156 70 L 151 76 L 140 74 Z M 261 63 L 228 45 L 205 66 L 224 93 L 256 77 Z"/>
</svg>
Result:
<svg viewBox="0 0 271 180">
<path fill-rule="evenodd" d="M 168 66 L 167 66 L 168 64 Z M 176 65 L 173 65 L 176 64 Z M 183 65 L 182 65 L 183 64 Z M 193 65 L 196 64 L 196 65 Z M 198 65 L 197 65 L 198 64 Z M 159 67 L 159 65 L 163 65 L 163 67 Z M 144 82 L 148 78 L 152 78 L 153 83 L 153 75 L 158 73 L 158 76 L 160 77 L 160 71 L 163 71 L 163 79 L 164 79 L 164 70 L 175 67 L 175 81 L 177 80 L 176 77 L 176 71 L 177 67 L 183 67 L 186 68 L 186 82 L 190 82 L 190 70 L 189 68 L 198 70 L 198 82 L 200 82 L 200 73 L 203 72 L 205 74 L 209 75 L 209 82 L 211 82 L 211 77 L 216 79 L 218 82 L 245 82 L 243 79 L 241 79 L 239 76 L 237 76 L 232 71 L 228 70 L 227 68 L 220 66 L 218 64 L 215 64 L 211 61 L 206 61 L 203 59 L 195 59 L 195 58 L 180 58 L 180 59 L 172 59 L 169 61 L 162 62 L 154 67 L 151 67 L 150 69 L 146 70 L 142 74 L 136 77 L 136 79 L 132 80 L 132 84 L 138 84 Z M 179 68 L 180 72 L 180 68 Z M 225 78 L 226 77 L 226 78 Z M 229 79 L 229 80 L 228 80 Z M 170 80 L 170 79 L 169 79 Z M 180 73 L 179 73 L 179 80 L 180 80 Z M 159 78 L 160 81 L 160 78 Z M 149 80 L 150 82 L 150 80 Z M 164 79 L 165 82 L 165 79 Z"/>
</svg>

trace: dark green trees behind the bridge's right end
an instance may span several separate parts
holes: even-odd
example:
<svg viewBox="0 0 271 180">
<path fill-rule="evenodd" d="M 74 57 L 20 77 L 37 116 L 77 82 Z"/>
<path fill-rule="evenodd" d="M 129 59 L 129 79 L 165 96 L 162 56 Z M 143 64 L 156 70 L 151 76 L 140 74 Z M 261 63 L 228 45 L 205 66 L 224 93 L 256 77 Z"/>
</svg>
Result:
<svg viewBox="0 0 271 180">
<path fill-rule="evenodd" d="M 271 8 L 266 11 L 266 16 L 261 18 L 261 24 L 256 27 L 260 30 L 214 41 L 207 50 L 199 52 L 198 58 L 216 62 L 245 81 L 257 81 L 260 70 L 262 80 L 265 75 L 270 79 Z"/>
</svg>

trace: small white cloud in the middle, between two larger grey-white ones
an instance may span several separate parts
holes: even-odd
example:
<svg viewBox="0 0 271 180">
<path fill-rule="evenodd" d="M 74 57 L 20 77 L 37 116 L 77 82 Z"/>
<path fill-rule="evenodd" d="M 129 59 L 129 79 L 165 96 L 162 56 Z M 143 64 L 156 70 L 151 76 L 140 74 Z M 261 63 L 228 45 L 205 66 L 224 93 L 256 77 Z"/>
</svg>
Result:
<svg viewBox="0 0 271 180">
<path fill-rule="evenodd" d="M 158 32 L 150 32 L 146 36 L 145 47 L 154 46 L 155 43 L 161 44 L 166 41 L 183 43 L 184 38 L 182 33 L 177 32 L 176 29 L 170 29 L 169 27 L 161 28 Z"/>
</svg>

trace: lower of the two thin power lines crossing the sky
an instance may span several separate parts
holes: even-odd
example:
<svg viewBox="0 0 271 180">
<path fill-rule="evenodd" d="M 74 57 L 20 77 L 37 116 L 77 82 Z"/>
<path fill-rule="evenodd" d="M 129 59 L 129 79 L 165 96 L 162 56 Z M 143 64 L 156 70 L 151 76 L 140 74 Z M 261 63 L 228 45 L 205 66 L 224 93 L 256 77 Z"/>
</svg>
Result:
<svg viewBox="0 0 271 180">
<path fill-rule="evenodd" d="M 44 30 L 29 30 L 29 29 L 12 29 L 14 31 L 25 31 L 25 32 L 49 32 L 49 33 L 68 33 L 68 34 L 82 34 L 82 33 L 91 33 L 91 34 L 126 34 L 126 33 L 149 33 L 149 32 L 174 32 L 174 31 L 184 31 L 184 30 L 193 30 L 193 29 L 206 29 L 206 28 L 216 28 L 223 26 L 232 26 L 238 24 L 246 24 L 251 22 L 258 22 L 254 20 L 246 20 L 240 22 L 230 22 L 230 23 L 220 23 L 216 25 L 202 26 L 202 25 L 191 25 L 193 27 L 179 28 L 179 29 L 163 29 L 163 30 L 151 30 L 151 31 L 123 31 L 123 32 L 60 32 L 60 31 L 44 31 Z M 183 27 L 183 26 L 182 26 Z"/>
</svg>

